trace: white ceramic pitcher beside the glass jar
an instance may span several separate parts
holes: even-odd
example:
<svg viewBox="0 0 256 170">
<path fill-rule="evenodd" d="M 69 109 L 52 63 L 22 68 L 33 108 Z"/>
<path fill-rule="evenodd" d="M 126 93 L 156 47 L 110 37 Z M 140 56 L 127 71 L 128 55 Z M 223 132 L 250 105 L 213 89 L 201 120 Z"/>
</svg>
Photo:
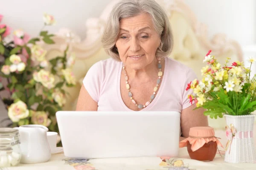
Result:
<svg viewBox="0 0 256 170">
<path fill-rule="evenodd" d="M 20 133 L 20 163 L 36 164 L 49 161 L 51 150 L 47 141 L 47 127 L 30 124 L 15 129 Z"/>
</svg>

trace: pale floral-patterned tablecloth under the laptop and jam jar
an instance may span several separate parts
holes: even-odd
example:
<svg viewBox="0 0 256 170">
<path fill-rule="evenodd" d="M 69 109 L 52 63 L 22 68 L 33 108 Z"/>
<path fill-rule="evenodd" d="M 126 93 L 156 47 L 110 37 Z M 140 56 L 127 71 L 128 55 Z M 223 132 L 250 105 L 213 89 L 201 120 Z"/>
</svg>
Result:
<svg viewBox="0 0 256 170">
<path fill-rule="evenodd" d="M 70 159 L 63 153 L 41 164 L 19 164 L 17 167 L 0 170 L 174 170 L 173 165 L 183 164 L 175 170 L 256 170 L 256 164 L 230 164 L 224 156 L 215 156 L 213 161 L 203 162 L 189 158 L 186 147 L 180 148 L 178 158 L 140 157 L 140 158 L 101 158 L 90 160 Z M 186 168 L 187 167 L 187 168 Z"/>
</svg>

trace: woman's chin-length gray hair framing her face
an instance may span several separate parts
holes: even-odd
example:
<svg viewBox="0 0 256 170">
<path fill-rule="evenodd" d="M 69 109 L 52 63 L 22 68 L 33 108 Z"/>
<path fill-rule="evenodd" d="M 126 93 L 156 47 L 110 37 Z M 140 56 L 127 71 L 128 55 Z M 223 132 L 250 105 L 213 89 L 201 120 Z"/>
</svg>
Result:
<svg viewBox="0 0 256 170">
<path fill-rule="evenodd" d="M 119 53 L 115 47 L 119 35 L 120 20 L 144 13 L 150 15 L 154 28 L 160 37 L 160 46 L 157 48 L 156 57 L 165 58 L 170 55 L 173 37 L 169 18 L 164 9 L 154 0 L 122 0 L 113 7 L 101 40 L 108 55 L 120 61 Z"/>
</svg>

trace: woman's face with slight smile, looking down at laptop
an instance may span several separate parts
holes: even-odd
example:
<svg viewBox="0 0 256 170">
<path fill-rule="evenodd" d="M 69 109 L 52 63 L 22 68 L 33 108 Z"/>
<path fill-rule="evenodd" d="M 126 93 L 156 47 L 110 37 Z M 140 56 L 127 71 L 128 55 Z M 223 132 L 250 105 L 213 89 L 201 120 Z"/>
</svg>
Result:
<svg viewBox="0 0 256 170">
<path fill-rule="evenodd" d="M 120 59 L 131 69 L 143 69 L 155 60 L 160 37 L 148 14 L 140 14 L 120 21 L 116 47 Z"/>
</svg>

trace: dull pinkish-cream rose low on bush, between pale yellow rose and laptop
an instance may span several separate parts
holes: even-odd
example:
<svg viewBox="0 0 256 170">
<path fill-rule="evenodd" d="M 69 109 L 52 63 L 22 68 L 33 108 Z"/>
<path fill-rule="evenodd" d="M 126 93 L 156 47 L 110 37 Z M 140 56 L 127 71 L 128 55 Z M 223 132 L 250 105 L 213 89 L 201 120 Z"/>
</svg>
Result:
<svg viewBox="0 0 256 170">
<path fill-rule="evenodd" d="M 48 115 L 46 112 L 43 111 L 31 111 L 32 116 L 31 116 L 31 122 L 33 124 L 40 124 L 43 126 L 48 127 L 51 124 L 51 120 L 48 118 Z"/>
</svg>

